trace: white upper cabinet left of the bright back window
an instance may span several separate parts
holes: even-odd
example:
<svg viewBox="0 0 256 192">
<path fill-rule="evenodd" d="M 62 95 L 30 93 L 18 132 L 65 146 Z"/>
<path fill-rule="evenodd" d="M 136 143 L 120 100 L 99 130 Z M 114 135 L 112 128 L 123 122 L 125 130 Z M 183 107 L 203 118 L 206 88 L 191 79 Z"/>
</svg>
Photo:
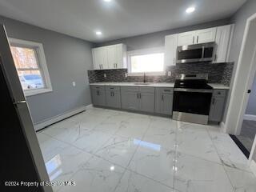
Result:
<svg viewBox="0 0 256 192">
<path fill-rule="evenodd" d="M 104 52 L 104 54 L 101 53 Z M 126 68 L 126 46 L 123 44 L 102 46 L 92 49 L 94 70 Z M 105 63 L 103 67 L 100 63 Z"/>
</svg>

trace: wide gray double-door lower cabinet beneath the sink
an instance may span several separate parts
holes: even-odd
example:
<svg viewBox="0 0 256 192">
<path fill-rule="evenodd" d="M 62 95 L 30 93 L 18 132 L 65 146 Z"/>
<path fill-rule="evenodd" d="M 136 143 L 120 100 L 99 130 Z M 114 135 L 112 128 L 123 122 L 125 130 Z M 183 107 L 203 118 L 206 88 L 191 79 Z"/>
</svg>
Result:
<svg viewBox="0 0 256 192">
<path fill-rule="evenodd" d="M 154 113 L 154 87 L 121 87 L 122 109 Z"/>
</svg>

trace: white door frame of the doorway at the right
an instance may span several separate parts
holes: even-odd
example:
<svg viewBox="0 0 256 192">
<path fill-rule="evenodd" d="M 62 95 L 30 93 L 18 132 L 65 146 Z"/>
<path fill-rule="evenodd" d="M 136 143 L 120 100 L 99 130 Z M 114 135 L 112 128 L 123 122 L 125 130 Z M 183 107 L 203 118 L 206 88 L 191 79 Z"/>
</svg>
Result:
<svg viewBox="0 0 256 192">
<path fill-rule="evenodd" d="M 246 113 L 250 90 L 256 74 L 256 13 L 246 21 L 246 29 L 242 39 L 238 65 L 231 90 L 230 105 L 226 115 L 225 130 L 229 134 L 240 134 L 242 122 Z M 254 146 L 256 145 L 254 139 Z M 250 152 L 249 163 L 254 154 L 254 147 Z"/>
</svg>

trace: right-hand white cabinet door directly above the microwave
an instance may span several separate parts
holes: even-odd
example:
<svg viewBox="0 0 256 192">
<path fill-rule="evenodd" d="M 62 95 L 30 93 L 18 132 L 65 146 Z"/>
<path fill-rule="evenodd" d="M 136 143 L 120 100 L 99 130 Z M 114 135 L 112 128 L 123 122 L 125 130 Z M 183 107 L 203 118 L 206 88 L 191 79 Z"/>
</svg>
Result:
<svg viewBox="0 0 256 192">
<path fill-rule="evenodd" d="M 216 27 L 205 29 L 205 30 L 197 30 L 194 44 L 214 42 L 216 38 L 216 30 L 217 30 Z"/>
</svg>

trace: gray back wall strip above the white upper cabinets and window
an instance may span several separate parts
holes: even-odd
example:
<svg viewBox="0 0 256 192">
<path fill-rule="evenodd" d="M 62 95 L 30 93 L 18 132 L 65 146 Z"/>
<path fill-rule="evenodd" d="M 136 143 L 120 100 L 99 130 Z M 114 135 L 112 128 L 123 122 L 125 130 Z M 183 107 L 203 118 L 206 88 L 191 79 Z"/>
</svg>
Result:
<svg viewBox="0 0 256 192">
<path fill-rule="evenodd" d="M 206 22 L 195 26 L 186 26 L 174 30 L 165 30 L 152 34 L 143 34 L 131 38 L 122 38 L 110 42 L 98 43 L 96 46 L 108 46 L 117 43 L 124 43 L 127 46 L 127 50 L 140 50 L 158 46 L 164 46 L 165 36 L 168 34 L 178 34 L 190 30 L 206 29 L 214 26 L 224 26 L 230 24 L 230 19 L 218 20 L 215 22 Z"/>
</svg>

